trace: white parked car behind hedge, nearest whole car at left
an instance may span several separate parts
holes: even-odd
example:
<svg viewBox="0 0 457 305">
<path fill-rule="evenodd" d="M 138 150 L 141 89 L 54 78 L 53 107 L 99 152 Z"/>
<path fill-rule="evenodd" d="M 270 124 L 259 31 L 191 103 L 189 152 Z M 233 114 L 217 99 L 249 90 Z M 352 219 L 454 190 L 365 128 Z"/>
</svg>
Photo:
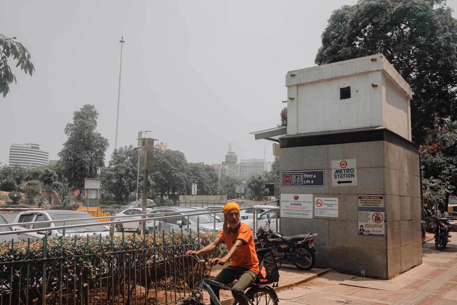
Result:
<svg viewBox="0 0 457 305">
<path fill-rule="evenodd" d="M 81 220 L 81 221 L 67 221 L 68 219 L 82 219 L 82 218 L 94 218 L 90 214 L 83 211 L 69 211 L 69 210 L 39 210 L 39 211 L 27 211 L 19 213 L 14 219 L 13 223 L 21 222 L 37 222 L 37 221 L 58 221 L 54 223 L 42 223 L 42 224 L 31 224 L 31 225 L 18 225 L 12 226 L 20 239 L 41 239 L 48 233 L 49 236 L 62 236 L 63 229 L 55 230 L 53 227 L 56 226 L 71 226 L 71 225 L 87 225 L 79 228 L 65 229 L 65 236 L 74 236 L 77 234 L 101 234 L 109 235 L 110 230 L 107 226 L 104 226 L 100 221 L 94 220 Z M 21 233 L 22 230 L 42 228 L 43 231 Z"/>
</svg>

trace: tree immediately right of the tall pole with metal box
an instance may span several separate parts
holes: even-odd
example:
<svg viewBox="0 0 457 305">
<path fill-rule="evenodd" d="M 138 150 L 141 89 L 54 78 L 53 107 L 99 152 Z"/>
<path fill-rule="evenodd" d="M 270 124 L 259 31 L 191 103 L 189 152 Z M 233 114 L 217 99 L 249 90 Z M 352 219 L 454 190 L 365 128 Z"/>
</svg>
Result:
<svg viewBox="0 0 457 305">
<path fill-rule="evenodd" d="M 155 190 L 160 193 L 160 201 L 164 200 L 165 193 L 184 193 L 189 181 L 189 169 L 186 156 L 177 150 L 161 150 L 154 148 L 154 168 L 152 177 Z"/>
</svg>

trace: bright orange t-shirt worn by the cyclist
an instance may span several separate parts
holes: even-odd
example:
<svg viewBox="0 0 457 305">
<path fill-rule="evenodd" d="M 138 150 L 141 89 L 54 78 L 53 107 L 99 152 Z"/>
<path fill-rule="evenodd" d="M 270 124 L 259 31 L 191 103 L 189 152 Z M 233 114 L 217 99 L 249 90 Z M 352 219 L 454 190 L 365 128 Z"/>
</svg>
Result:
<svg viewBox="0 0 457 305">
<path fill-rule="evenodd" d="M 227 234 L 224 234 L 224 231 L 220 231 L 218 237 L 225 242 L 228 250 L 233 247 L 235 241 L 240 240 L 243 242 L 241 248 L 231 259 L 230 266 L 244 267 L 252 270 L 255 274 L 259 273 L 259 260 L 255 253 L 254 237 L 252 236 L 250 226 L 240 222 L 240 226 L 234 231 L 228 227 Z"/>
</svg>

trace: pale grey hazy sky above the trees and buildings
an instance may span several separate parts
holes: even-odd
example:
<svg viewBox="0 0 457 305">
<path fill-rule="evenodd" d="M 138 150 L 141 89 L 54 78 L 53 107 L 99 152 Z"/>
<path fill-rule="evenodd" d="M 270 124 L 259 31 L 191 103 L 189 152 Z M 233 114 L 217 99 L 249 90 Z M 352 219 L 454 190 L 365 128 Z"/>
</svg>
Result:
<svg viewBox="0 0 457 305">
<path fill-rule="evenodd" d="M 17 84 L 0 97 L 0 162 L 26 142 L 58 159 L 66 123 L 88 103 L 110 159 L 122 33 L 120 146 L 136 145 L 142 129 L 189 162 L 220 163 L 228 142 L 238 159 L 263 158 L 266 147 L 271 161 L 271 142 L 248 133 L 279 123 L 287 71 L 314 66 L 331 12 L 354 3 L 3 1 L 0 33 L 28 48 L 36 71 L 15 69 Z"/>
</svg>

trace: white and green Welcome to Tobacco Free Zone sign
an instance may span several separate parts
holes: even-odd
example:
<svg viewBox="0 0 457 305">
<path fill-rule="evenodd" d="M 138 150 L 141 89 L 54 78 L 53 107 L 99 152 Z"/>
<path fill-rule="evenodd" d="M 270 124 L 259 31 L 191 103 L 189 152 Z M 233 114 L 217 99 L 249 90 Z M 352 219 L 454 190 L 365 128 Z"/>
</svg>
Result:
<svg viewBox="0 0 457 305">
<path fill-rule="evenodd" d="M 281 194 L 280 216 L 313 218 L 313 194 Z"/>
</svg>

